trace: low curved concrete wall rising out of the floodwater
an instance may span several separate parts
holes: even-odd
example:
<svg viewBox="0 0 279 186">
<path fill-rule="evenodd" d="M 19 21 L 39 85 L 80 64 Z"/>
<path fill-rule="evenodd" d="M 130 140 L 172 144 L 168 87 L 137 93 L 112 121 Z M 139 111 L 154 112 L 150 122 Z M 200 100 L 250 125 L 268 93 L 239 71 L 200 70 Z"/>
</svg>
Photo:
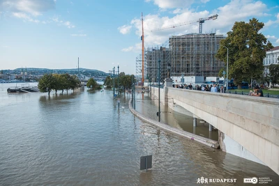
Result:
<svg viewBox="0 0 279 186">
<path fill-rule="evenodd" d="M 212 148 L 219 148 L 220 147 L 218 141 L 214 141 L 212 139 L 206 139 L 204 137 L 200 137 L 200 136 L 192 134 L 190 132 L 186 132 L 186 131 L 183 131 L 183 130 L 176 129 L 174 127 L 170 127 L 169 125 L 165 125 L 164 123 L 160 123 L 158 121 L 153 121 L 150 118 L 147 118 L 146 116 L 143 116 L 138 111 L 133 109 L 132 100 L 129 101 L 129 109 L 138 118 L 142 119 L 143 121 L 145 121 L 147 123 L 150 123 L 151 125 L 159 127 L 162 130 L 165 130 L 167 132 L 171 132 L 172 134 L 176 134 L 176 135 L 179 135 L 181 137 L 186 137 L 188 139 L 195 140 L 195 141 L 197 141 L 201 144 L 204 144 L 206 146 L 211 146 Z"/>
</svg>

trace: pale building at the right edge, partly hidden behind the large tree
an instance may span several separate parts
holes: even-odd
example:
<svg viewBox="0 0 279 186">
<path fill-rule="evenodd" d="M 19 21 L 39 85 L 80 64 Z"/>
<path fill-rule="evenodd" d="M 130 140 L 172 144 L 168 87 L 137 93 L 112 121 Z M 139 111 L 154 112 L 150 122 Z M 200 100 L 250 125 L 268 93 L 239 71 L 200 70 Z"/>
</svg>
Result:
<svg viewBox="0 0 279 186">
<path fill-rule="evenodd" d="M 269 65 L 271 64 L 279 64 L 279 46 L 266 51 L 266 57 L 264 58 L 264 72 L 269 74 Z"/>
</svg>

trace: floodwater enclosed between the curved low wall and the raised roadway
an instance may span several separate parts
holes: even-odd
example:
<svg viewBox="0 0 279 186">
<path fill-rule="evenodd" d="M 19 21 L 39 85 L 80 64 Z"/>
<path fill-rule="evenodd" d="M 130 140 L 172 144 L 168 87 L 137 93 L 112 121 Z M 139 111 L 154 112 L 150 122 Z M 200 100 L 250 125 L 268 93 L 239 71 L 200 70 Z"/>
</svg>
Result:
<svg viewBox="0 0 279 186">
<path fill-rule="evenodd" d="M 158 99 L 151 98 L 148 92 L 137 92 L 135 107 L 141 114 L 158 121 Z M 182 107 L 181 110 L 185 113 L 189 112 L 185 109 L 183 110 Z M 179 130 L 185 130 L 187 132 L 218 141 L 218 130 L 209 131 L 209 123 L 204 123 L 204 121 L 197 118 L 197 127 L 193 127 L 193 114 L 191 114 L 192 116 L 189 116 L 190 114 L 181 114 L 170 109 L 168 106 L 163 105 L 162 103 L 160 103 L 160 111 L 160 122 L 176 127 Z"/>
</svg>

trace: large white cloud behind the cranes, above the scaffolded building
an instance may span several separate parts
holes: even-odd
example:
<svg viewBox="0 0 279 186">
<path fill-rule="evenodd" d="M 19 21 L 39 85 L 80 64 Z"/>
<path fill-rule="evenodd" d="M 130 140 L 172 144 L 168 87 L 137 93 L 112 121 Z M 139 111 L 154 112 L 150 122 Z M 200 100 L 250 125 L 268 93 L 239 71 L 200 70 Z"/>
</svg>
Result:
<svg viewBox="0 0 279 186">
<path fill-rule="evenodd" d="M 174 17 L 160 17 L 160 15 L 146 15 L 144 16 L 144 45 L 145 47 L 152 47 L 167 43 L 169 36 L 181 35 L 186 33 L 198 33 L 199 23 L 197 20 L 202 17 L 209 17 L 209 15 L 218 14 L 217 20 L 206 20 L 203 26 L 203 33 L 215 32 L 217 34 L 226 35 L 228 31 L 232 30 L 234 22 L 246 21 L 252 17 L 264 17 L 268 8 L 262 1 L 253 0 L 232 0 L 225 6 L 221 6 L 211 12 L 207 10 L 195 11 L 193 9 L 187 9 L 186 4 L 190 4 L 193 1 L 172 1 L 172 0 L 145 0 L 146 2 L 153 2 L 158 5 L 159 8 L 176 8 L 172 13 L 176 13 Z M 204 0 L 199 2 L 206 3 Z M 279 15 L 278 15 L 279 16 Z M 259 18 L 258 18 L 259 19 Z M 140 17 L 135 18 L 130 22 L 135 28 L 135 33 L 140 40 L 142 36 L 142 22 Z M 183 26 L 177 26 L 175 28 L 163 29 L 161 31 L 153 31 L 163 27 L 172 26 L 174 24 L 183 24 Z M 125 25 L 124 25 L 125 26 Z M 123 27 L 124 27 L 123 26 Z M 120 27 L 119 27 L 120 28 Z M 167 45 L 167 44 L 166 44 Z M 135 46 L 123 49 L 124 51 L 141 51 L 141 43 L 135 44 Z"/>
</svg>

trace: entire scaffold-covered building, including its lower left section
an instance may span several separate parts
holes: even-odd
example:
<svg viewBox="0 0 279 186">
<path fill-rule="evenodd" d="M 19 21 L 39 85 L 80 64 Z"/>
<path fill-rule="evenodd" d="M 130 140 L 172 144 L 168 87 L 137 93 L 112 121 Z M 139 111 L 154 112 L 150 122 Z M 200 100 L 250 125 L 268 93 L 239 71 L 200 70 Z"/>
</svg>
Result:
<svg viewBox="0 0 279 186">
<path fill-rule="evenodd" d="M 218 77 L 218 72 L 225 63 L 216 59 L 216 53 L 220 40 L 224 38 L 225 36 L 215 33 L 190 33 L 170 37 L 167 45 L 148 47 L 144 52 L 144 76 L 149 77 L 151 82 L 158 82 L 160 61 L 161 82 L 167 77 L 167 63 L 171 65 L 172 77 Z M 136 63 L 140 67 L 142 61 Z M 140 75 L 138 70 L 137 75 Z"/>
</svg>

